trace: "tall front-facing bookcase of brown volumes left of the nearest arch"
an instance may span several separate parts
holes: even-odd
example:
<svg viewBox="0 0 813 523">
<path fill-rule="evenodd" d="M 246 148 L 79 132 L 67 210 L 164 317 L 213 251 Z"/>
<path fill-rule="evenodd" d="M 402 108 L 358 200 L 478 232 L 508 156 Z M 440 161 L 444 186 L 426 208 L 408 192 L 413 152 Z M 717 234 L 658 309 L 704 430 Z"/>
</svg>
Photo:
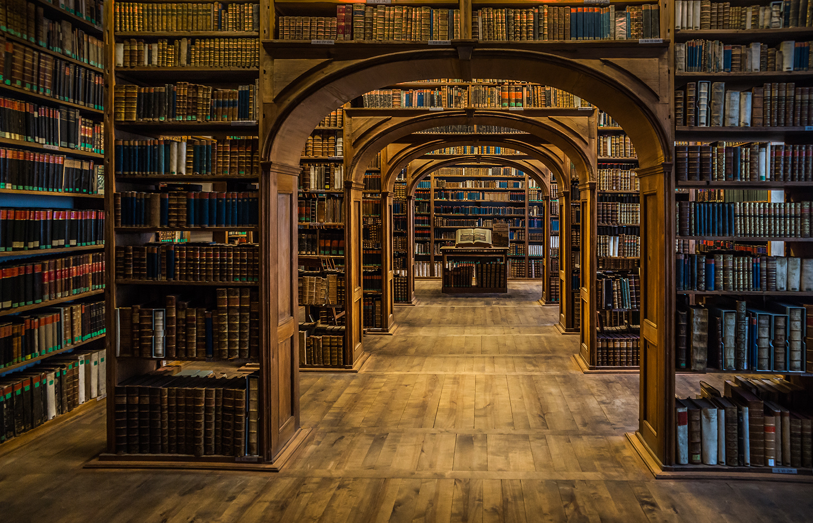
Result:
<svg viewBox="0 0 813 523">
<path fill-rule="evenodd" d="M 271 299 L 296 288 L 295 273 L 271 283 L 259 270 L 270 266 L 271 212 L 298 212 L 295 185 L 270 201 L 260 165 L 268 21 L 259 2 L 207 3 L 177 4 L 189 10 L 177 19 L 166 2 L 141 2 L 134 16 L 127 2 L 105 4 L 114 400 L 94 467 L 277 470 L 302 435 L 295 340 L 280 347 L 261 322 L 272 308 L 296 315 Z M 278 240 L 296 256 L 293 234 Z M 158 407 L 133 410 L 144 402 Z"/>
</svg>

